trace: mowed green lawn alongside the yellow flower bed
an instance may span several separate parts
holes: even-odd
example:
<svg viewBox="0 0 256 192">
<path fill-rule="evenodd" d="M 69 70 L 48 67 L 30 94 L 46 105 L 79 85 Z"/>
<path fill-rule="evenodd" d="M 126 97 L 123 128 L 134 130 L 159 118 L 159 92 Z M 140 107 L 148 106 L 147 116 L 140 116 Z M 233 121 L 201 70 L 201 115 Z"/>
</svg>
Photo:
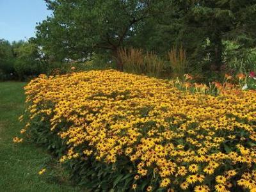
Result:
<svg viewBox="0 0 256 192">
<path fill-rule="evenodd" d="M 15 144 L 24 123 L 25 83 L 0 83 L 0 191 L 81 191 L 66 182 L 54 182 L 38 175 L 51 156 L 31 143 Z"/>
</svg>

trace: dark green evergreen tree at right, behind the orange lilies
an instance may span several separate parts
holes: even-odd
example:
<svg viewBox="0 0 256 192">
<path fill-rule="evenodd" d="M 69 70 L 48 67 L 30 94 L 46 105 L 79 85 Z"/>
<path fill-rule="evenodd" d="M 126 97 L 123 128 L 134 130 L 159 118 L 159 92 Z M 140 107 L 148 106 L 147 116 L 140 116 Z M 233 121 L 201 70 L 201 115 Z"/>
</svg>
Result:
<svg viewBox="0 0 256 192">
<path fill-rule="evenodd" d="M 177 42 L 185 45 L 194 60 L 210 53 L 212 66 L 220 70 L 223 40 L 234 40 L 243 47 L 255 46 L 255 0 L 172 1 L 172 4 L 177 12 L 169 15 L 170 25 L 179 28 Z M 211 46 L 202 49 L 207 38 Z"/>
</svg>

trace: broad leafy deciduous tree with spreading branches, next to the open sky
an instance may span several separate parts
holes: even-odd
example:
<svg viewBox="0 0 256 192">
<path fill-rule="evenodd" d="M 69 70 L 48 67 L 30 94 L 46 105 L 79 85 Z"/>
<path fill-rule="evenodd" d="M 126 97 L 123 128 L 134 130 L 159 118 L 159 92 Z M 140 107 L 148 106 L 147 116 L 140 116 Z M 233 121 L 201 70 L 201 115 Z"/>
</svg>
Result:
<svg viewBox="0 0 256 192">
<path fill-rule="evenodd" d="M 131 44 L 152 16 L 152 0 L 47 0 L 52 10 L 36 27 L 35 42 L 56 60 L 86 58 L 97 51 L 111 52 Z M 122 65 L 118 68 L 122 70 Z"/>
</svg>

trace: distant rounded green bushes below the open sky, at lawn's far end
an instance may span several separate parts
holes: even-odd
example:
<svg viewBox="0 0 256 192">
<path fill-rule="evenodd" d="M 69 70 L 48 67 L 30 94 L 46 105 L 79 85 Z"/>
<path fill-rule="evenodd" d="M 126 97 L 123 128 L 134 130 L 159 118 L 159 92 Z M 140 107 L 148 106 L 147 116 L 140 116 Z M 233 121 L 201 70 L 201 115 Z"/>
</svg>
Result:
<svg viewBox="0 0 256 192">
<path fill-rule="evenodd" d="M 38 76 L 44 70 L 38 47 L 29 42 L 10 42 L 0 44 L 0 80 L 19 79 Z"/>
</svg>

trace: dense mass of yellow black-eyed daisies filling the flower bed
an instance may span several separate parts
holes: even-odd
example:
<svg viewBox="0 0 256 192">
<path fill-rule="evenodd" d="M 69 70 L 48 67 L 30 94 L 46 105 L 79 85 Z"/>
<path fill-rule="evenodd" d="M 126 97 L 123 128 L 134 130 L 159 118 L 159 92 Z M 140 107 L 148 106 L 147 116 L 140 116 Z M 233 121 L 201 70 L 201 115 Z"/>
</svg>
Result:
<svg viewBox="0 0 256 192">
<path fill-rule="evenodd" d="M 40 75 L 25 90 L 22 132 L 35 118 L 49 122 L 68 147 L 60 162 L 126 157 L 134 190 L 154 174 L 147 191 L 256 191 L 256 92 L 191 93 L 116 70 Z"/>
</svg>

